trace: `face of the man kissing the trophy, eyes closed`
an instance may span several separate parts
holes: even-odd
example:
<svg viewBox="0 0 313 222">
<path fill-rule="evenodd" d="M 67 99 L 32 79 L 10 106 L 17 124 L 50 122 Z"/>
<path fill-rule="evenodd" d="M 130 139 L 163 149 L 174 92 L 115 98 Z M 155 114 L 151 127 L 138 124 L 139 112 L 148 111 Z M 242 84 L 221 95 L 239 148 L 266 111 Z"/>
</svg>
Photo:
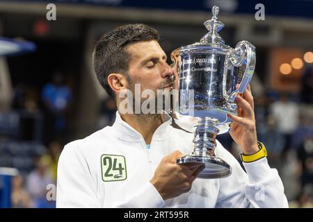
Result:
<svg viewBox="0 0 313 222">
<path fill-rule="evenodd" d="M 131 92 L 135 92 L 135 84 L 140 84 L 141 92 L 152 89 L 156 95 L 149 99 L 156 100 L 158 91 L 168 95 L 172 90 L 173 71 L 166 62 L 166 53 L 159 43 L 155 40 L 136 42 L 127 46 L 127 52 L 131 55 L 128 70 Z M 141 103 L 145 100 L 141 99 Z M 155 104 L 157 105 L 157 101 Z"/>
</svg>

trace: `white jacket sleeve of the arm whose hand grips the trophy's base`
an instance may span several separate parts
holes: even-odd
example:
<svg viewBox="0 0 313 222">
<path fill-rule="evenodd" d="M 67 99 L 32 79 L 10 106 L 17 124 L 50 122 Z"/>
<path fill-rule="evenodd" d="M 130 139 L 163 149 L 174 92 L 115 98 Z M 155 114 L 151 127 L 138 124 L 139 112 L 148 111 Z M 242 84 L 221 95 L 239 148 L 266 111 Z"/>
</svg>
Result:
<svg viewBox="0 0 313 222">
<path fill-rule="evenodd" d="M 79 148 L 67 144 L 58 161 L 56 207 L 103 207 L 89 169 Z M 150 182 L 146 182 L 130 198 L 121 203 L 114 203 L 111 207 L 162 207 L 163 205 L 163 198 L 157 189 Z"/>
</svg>

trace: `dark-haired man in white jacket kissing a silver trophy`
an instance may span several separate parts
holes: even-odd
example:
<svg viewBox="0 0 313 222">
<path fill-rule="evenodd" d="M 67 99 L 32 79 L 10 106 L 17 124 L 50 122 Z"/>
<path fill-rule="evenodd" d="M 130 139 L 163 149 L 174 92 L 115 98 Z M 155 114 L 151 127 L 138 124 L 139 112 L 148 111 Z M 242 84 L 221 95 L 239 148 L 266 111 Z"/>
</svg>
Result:
<svg viewBox="0 0 313 222">
<path fill-rule="evenodd" d="M 170 90 L 173 71 L 158 43 L 159 34 L 143 24 L 120 26 L 95 46 L 95 73 L 115 99 L 112 127 L 67 144 L 58 163 L 57 207 L 287 207 L 278 172 L 266 157 L 239 162 L 216 141 L 216 156 L 232 166 L 222 179 L 199 179 L 202 166 L 176 160 L 193 151 L 193 134 L 168 114 L 122 113 L 123 90 Z M 259 151 L 250 89 L 238 97 L 240 117 L 230 134 L 243 153 Z M 144 101 L 141 101 L 143 103 Z"/>
</svg>

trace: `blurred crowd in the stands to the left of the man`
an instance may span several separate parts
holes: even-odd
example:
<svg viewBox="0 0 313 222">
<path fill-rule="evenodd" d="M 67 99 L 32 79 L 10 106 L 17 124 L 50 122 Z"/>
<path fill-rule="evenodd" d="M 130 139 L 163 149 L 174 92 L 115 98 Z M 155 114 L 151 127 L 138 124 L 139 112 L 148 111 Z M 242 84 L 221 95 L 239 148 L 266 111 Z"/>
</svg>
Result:
<svg viewBox="0 0 313 222">
<path fill-rule="evenodd" d="M 71 101 L 61 72 L 41 92 L 32 85 L 15 86 L 12 110 L 0 113 L 0 167 L 19 170 L 11 181 L 12 207 L 55 207 L 47 200 L 47 188 L 56 185 L 58 157 L 68 142 Z"/>
</svg>

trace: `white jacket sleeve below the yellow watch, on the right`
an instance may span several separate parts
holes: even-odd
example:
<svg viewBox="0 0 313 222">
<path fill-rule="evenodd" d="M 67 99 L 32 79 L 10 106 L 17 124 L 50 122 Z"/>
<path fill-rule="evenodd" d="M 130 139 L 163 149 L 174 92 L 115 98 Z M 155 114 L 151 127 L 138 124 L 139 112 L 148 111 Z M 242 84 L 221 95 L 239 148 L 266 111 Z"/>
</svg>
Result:
<svg viewBox="0 0 313 222">
<path fill-rule="evenodd" d="M 232 165 L 232 175 L 220 180 L 216 207 L 289 207 L 278 171 L 269 167 L 266 157 L 243 163 L 246 172 L 227 152 L 228 161 Z"/>
</svg>

